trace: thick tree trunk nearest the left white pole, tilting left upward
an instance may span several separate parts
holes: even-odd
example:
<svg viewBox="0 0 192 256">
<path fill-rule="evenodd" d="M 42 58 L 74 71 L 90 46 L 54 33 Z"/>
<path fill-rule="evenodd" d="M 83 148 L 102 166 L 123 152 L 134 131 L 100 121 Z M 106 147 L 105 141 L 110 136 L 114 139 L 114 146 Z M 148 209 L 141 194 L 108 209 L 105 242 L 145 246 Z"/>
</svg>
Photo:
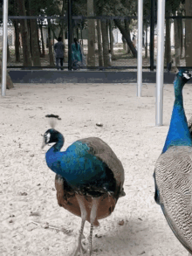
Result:
<svg viewBox="0 0 192 256">
<path fill-rule="evenodd" d="M 17 0 L 17 5 L 19 6 L 18 8 L 19 15 L 26 16 L 24 0 Z M 31 53 L 30 53 L 30 40 L 29 40 L 29 35 L 27 30 L 26 19 L 20 19 L 20 24 L 21 24 L 24 66 L 32 66 Z"/>
</svg>

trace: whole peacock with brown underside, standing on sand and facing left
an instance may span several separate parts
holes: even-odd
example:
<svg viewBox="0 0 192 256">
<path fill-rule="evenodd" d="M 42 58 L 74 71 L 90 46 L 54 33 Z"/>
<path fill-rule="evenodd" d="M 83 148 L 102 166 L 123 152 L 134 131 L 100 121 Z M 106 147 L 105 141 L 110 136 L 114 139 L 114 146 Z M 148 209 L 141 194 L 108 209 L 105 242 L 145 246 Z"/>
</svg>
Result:
<svg viewBox="0 0 192 256">
<path fill-rule="evenodd" d="M 58 115 L 46 116 L 51 120 L 58 119 Z M 124 169 L 113 150 L 98 137 L 73 142 L 61 152 L 65 139 L 54 127 L 54 121 L 51 121 L 42 148 L 45 144 L 54 143 L 46 152 L 45 160 L 56 173 L 58 205 L 81 217 L 78 246 L 72 256 L 86 252 L 81 243 L 86 221 L 91 224 L 89 255 L 92 255 L 93 226 L 99 226 L 98 219 L 109 216 L 119 197 L 126 195 L 123 189 Z"/>
</svg>

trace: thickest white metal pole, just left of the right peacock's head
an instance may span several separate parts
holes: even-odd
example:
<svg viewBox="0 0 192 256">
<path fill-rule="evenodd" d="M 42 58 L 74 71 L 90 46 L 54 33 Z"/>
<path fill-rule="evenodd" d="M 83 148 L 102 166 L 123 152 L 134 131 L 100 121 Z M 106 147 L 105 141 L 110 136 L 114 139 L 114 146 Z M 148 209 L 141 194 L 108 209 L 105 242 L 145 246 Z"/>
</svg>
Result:
<svg viewBox="0 0 192 256">
<path fill-rule="evenodd" d="M 164 76 L 164 29 L 165 29 L 165 0 L 158 1 L 157 14 L 157 70 L 156 70 L 156 126 L 162 125 L 163 107 L 163 76 Z"/>
</svg>

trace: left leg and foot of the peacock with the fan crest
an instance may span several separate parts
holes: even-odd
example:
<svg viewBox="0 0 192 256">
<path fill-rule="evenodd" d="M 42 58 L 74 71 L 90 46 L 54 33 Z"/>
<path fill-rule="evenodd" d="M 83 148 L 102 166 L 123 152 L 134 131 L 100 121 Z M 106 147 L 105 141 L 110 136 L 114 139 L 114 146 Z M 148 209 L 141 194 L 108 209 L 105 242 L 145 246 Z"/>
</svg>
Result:
<svg viewBox="0 0 192 256">
<path fill-rule="evenodd" d="M 84 249 L 84 247 L 82 246 L 82 243 L 81 243 L 84 225 L 86 223 L 86 215 L 87 215 L 85 198 L 82 196 L 79 196 L 79 195 L 78 196 L 76 195 L 76 197 L 77 197 L 80 211 L 81 211 L 81 226 L 80 226 L 80 231 L 79 231 L 78 246 L 77 246 L 77 249 L 75 250 L 75 252 L 72 254 L 72 256 L 77 256 L 78 253 L 81 253 L 81 255 L 83 255 L 83 253 L 86 253 L 86 250 Z"/>
</svg>

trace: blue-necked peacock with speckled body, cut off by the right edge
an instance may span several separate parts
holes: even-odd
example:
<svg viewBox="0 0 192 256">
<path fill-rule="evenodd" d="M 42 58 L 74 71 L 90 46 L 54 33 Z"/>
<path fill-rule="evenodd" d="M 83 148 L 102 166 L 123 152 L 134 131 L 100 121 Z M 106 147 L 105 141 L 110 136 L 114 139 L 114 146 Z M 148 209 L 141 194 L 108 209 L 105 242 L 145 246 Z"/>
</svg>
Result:
<svg viewBox="0 0 192 256">
<path fill-rule="evenodd" d="M 182 88 L 192 73 L 175 77 L 175 103 L 168 135 L 154 169 L 154 200 L 175 236 L 192 253 L 192 138 L 185 115 Z"/>
</svg>

